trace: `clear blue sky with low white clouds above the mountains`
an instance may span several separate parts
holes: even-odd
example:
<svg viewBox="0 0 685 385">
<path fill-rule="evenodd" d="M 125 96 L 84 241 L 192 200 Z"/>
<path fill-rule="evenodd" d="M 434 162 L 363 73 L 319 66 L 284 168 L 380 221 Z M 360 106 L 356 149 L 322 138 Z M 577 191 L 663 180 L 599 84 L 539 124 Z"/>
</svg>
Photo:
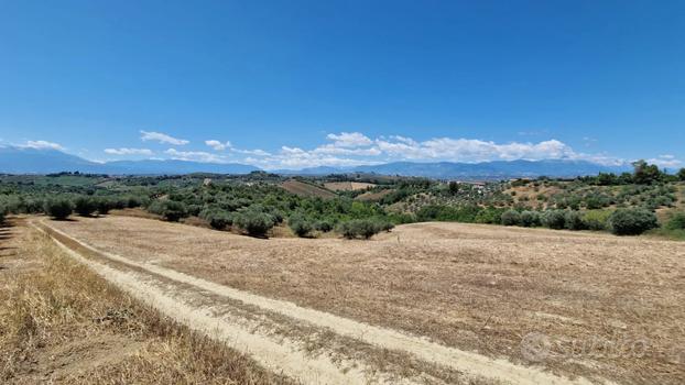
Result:
<svg viewBox="0 0 685 385">
<path fill-rule="evenodd" d="M 675 167 L 683 41 L 683 1 L 1 1 L 0 143 Z"/>
</svg>

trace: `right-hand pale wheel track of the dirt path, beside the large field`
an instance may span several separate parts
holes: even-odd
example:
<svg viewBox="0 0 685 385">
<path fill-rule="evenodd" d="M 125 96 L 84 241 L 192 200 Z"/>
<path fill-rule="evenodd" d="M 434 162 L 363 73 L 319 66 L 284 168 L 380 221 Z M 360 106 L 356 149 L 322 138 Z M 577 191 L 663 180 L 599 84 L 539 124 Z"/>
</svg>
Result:
<svg viewBox="0 0 685 385">
<path fill-rule="evenodd" d="M 166 277 L 168 279 L 192 285 L 203 290 L 207 290 L 209 293 L 214 293 L 220 296 L 225 296 L 243 304 L 257 306 L 259 308 L 278 312 L 283 316 L 286 316 L 292 319 L 297 319 L 302 321 L 309 322 L 317 327 L 327 328 L 331 331 L 344 336 L 357 339 L 359 341 L 377 345 L 383 349 L 393 350 L 393 351 L 403 351 L 413 354 L 420 360 L 443 365 L 445 367 L 449 367 L 461 373 L 465 373 L 472 377 L 486 377 L 494 381 L 501 381 L 504 383 L 512 384 L 522 384 L 522 385 L 536 385 L 536 384 L 550 384 L 550 385 L 587 385 L 592 384 L 590 381 L 586 378 L 566 378 L 562 376 L 556 376 L 552 373 L 547 373 L 536 367 L 528 367 L 520 366 L 513 364 L 507 360 L 502 359 L 490 359 L 488 356 L 460 351 L 455 348 L 445 346 L 435 342 L 432 342 L 425 338 L 409 336 L 395 330 L 384 329 L 367 323 L 362 323 L 359 321 L 355 321 L 351 319 L 346 319 L 342 317 L 338 317 L 331 314 L 327 314 L 319 310 L 308 309 L 300 307 L 293 302 L 267 298 L 259 295 L 254 295 L 251 293 L 238 290 L 228 286 L 219 285 L 216 283 L 211 283 L 202 278 L 197 278 L 185 273 L 180 273 L 174 270 L 161 267 L 157 265 L 149 264 L 149 263 L 139 263 L 135 261 L 131 261 L 123 256 L 107 253 L 104 251 L 99 251 L 96 248 L 84 243 L 73 237 L 50 227 L 44 222 L 40 222 L 40 227 L 43 227 L 44 230 L 47 230 L 48 233 L 52 233 L 53 239 L 55 239 L 58 244 L 63 248 L 66 248 L 79 256 L 79 261 L 84 260 L 83 256 L 77 254 L 76 252 L 68 249 L 66 245 L 62 244 L 58 238 L 63 238 L 70 242 L 78 244 L 79 246 L 95 253 L 96 255 L 100 255 L 105 258 L 122 263 L 124 265 L 133 266 L 135 268 L 150 272 L 152 274 Z M 57 237 L 55 237 L 57 235 Z M 88 260 L 85 260 L 89 263 Z M 108 274 L 117 275 L 121 274 L 111 267 L 108 268 Z M 132 283 L 128 279 L 122 280 L 122 285 L 131 286 Z M 172 304 L 166 304 L 171 306 Z M 191 310 L 191 309 L 186 309 Z M 206 321 L 206 320 L 204 320 Z M 283 348 L 279 348 L 275 351 L 280 351 L 283 354 Z M 296 372 L 296 369 L 292 369 Z M 360 377 L 357 381 L 361 381 Z M 345 381 L 344 383 L 358 383 L 357 381 Z M 314 383 L 319 383 L 314 382 Z M 366 381 L 361 381 L 361 383 L 366 383 Z M 605 382 L 606 384 L 610 384 L 609 382 Z"/>
</svg>

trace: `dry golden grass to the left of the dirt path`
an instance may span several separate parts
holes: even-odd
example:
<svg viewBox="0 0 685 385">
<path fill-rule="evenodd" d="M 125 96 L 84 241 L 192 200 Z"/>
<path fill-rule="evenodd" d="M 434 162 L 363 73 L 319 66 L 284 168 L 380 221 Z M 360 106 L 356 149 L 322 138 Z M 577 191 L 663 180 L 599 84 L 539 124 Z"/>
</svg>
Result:
<svg viewBox="0 0 685 385">
<path fill-rule="evenodd" d="M 290 381 L 162 317 L 13 219 L 0 229 L 0 383 Z"/>
</svg>

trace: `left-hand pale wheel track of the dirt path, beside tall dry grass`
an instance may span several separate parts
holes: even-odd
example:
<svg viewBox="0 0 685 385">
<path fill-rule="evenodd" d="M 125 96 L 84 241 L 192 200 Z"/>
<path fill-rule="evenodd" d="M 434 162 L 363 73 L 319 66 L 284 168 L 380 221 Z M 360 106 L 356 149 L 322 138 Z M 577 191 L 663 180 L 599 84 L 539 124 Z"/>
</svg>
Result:
<svg viewBox="0 0 685 385">
<path fill-rule="evenodd" d="M 107 264 L 95 262 L 72 250 L 51 229 L 34 228 L 55 242 L 68 256 L 88 266 L 135 299 L 150 305 L 175 321 L 191 327 L 231 348 L 251 356 L 274 373 L 282 373 L 303 384 L 418 384 L 411 380 L 399 380 L 379 373 L 361 361 L 334 362 L 326 354 L 311 355 L 301 345 L 283 338 L 270 338 L 225 315 L 217 315 L 216 307 L 196 304 L 194 294 L 180 295 L 168 283 L 160 282 L 134 271 L 120 271 Z M 46 231 L 48 230 L 48 231 Z"/>
</svg>

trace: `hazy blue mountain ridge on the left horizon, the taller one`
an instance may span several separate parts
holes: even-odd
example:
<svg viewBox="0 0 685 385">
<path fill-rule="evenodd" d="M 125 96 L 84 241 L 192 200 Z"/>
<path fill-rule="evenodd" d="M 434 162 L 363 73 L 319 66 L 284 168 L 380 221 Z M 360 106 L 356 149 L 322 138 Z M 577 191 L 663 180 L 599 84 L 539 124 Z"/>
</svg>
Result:
<svg viewBox="0 0 685 385">
<path fill-rule="evenodd" d="M 110 175 L 173 175 L 191 173 L 248 174 L 253 170 L 259 170 L 259 168 L 243 164 L 216 164 L 176 160 L 96 163 L 56 150 L 0 147 L 0 173 L 4 174 L 81 172 Z"/>
</svg>

